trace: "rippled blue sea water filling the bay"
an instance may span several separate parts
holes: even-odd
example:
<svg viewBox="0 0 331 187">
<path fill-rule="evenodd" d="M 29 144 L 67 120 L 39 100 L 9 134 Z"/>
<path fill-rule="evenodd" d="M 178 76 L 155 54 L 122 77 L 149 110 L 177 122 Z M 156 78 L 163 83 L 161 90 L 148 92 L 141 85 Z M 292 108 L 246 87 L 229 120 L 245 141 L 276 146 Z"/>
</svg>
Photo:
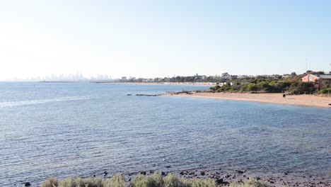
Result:
<svg viewBox="0 0 331 187">
<path fill-rule="evenodd" d="M 330 108 L 126 96 L 182 89 L 206 87 L 1 83 L 0 186 L 165 166 L 330 178 Z"/>
</svg>

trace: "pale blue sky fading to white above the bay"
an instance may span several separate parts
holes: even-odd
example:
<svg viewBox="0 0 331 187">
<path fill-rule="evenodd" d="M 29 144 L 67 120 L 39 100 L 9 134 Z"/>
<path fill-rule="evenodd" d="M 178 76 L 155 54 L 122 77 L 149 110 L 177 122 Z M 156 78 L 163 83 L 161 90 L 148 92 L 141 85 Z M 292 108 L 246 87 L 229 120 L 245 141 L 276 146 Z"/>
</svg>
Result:
<svg viewBox="0 0 331 187">
<path fill-rule="evenodd" d="M 0 80 L 331 71 L 331 1 L 0 0 Z"/>
</svg>

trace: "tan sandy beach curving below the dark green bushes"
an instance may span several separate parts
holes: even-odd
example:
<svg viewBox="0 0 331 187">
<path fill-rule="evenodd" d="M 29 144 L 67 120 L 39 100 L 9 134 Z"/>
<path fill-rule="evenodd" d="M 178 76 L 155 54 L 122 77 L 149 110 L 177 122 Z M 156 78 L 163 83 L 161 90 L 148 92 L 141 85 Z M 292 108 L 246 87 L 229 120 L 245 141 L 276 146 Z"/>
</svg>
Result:
<svg viewBox="0 0 331 187">
<path fill-rule="evenodd" d="M 330 96 L 296 95 L 286 96 L 283 94 L 243 94 L 243 93 L 193 93 L 193 94 L 166 94 L 165 96 L 191 97 L 191 98 L 213 98 L 234 101 L 254 101 L 260 103 L 277 103 L 284 105 L 313 106 L 331 108 Z"/>
</svg>

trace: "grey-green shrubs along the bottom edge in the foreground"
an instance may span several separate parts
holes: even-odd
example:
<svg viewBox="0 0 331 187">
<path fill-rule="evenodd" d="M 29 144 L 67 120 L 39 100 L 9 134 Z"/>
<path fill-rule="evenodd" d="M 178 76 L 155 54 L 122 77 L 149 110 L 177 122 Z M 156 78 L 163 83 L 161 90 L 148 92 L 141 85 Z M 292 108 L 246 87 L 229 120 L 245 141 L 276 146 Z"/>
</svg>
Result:
<svg viewBox="0 0 331 187">
<path fill-rule="evenodd" d="M 222 180 L 223 181 L 223 180 Z M 152 176 L 140 175 L 134 178 L 132 182 L 127 182 L 122 175 L 112 176 L 110 179 L 101 178 L 79 178 L 68 177 L 63 181 L 55 178 L 48 179 L 42 183 L 42 187 L 267 187 L 264 181 L 249 179 L 245 182 L 219 183 L 215 179 L 185 179 L 178 178 L 172 174 L 163 178 L 161 174 Z"/>
</svg>

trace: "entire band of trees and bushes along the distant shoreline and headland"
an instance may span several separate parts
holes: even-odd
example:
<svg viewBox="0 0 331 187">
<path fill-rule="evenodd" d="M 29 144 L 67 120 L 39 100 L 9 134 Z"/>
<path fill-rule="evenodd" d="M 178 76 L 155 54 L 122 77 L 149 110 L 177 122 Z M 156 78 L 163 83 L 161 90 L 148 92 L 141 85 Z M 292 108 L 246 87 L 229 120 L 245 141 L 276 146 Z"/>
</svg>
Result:
<svg viewBox="0 0 331 187">
<path fill-rule="evenodd" d="M 286 94 L 331 94 L 330 78 L 325 80 L 310 80 L 302 81 L 303 77 L 308 74 L 315 76 L 327 75 L 325 72 L 313 72 L 308 70 L 303 74 L 273 74 L 273 75 L 232 75 L 227 72 L 221 75 L 205 76 L 177 76 L 164 77 L 155 79 L 136 79 L 130 77 L 129 79 L 122 79 L 121 81 L 129 82 L 154 82 L 154 83 L 206 83 L 213 84 L 209 91 L 213 92 L 250 92 L 250 93 L 286 93 Z M 328 75 L 331 75 L 329 72 Z"/>
</svg>

